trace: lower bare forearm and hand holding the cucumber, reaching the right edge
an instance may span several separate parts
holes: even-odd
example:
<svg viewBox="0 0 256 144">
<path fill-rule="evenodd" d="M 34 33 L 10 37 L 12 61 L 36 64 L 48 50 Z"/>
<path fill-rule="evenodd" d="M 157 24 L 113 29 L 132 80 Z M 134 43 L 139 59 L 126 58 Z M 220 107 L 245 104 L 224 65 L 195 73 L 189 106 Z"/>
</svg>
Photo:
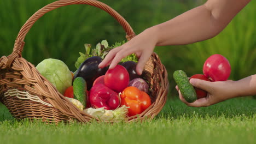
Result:
<svg viewBox="0 0 256 144">
<path fill-rule="evenodd" d="M 228 80 L 210 82 L 199 79 L 191 79 L 190 83 L 194 87 L 201 88 L 208 93 L 205 98 L 197 99 L 193 103 L 188 103 L 183 98 L 181 92 L 176 86 L 176 89 L 179 92 L 179 99 L 181 99 L 188 106 L 210 106 L 227 99 L 256 94 L 256 75 L 251 75 L 238 81 Z"/>
</svg>

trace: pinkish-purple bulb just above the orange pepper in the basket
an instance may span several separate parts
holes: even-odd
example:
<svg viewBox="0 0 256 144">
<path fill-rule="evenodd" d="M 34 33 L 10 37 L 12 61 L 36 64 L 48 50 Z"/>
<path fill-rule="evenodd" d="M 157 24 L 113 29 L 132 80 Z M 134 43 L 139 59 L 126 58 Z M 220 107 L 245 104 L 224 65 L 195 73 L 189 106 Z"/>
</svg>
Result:
<svg viewBox="0 0 256 144">
<path fill-rule="evenodd" d="M 136 78 L 131 80 L 128 86 L 137 87 L 139 91 L 143 91 L 146 93 L 148 92 L 148 88 L 149 88 L 148 83 L 142 78 Z"/>
</svg>

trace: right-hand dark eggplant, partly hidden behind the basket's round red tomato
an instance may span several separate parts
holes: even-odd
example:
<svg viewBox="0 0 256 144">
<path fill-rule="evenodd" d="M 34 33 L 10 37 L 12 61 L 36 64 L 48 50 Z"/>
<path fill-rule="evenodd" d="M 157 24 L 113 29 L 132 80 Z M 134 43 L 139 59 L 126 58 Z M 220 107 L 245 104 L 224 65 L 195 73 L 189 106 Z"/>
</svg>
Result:
<svg viewBox="0 0 256 144">
<path fill-rule="evenodd" d="M 121 65 L 123 65 L 123 67 L 125 67 L 126 70 L 128 71 L 130 81 L 139 77 L 139 75 L 136 73 L 136 65 L 137 65 L 136 62 L 127 61 L 127 62 L 122 63 Z"/>
</svg>

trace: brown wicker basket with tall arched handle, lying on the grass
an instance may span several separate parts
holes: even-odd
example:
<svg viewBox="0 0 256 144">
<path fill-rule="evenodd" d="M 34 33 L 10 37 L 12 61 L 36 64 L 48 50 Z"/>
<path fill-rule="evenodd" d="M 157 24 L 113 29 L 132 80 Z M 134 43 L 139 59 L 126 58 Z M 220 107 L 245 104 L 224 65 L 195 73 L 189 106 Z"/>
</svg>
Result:
<svg viewBox="0 0 256 144">
<path fill-rule="evenodd" d="M 14 43 L 11 55 L 0 58 L 0 101 L 7 106 L 17 119 L 28 118 L 32 121 L 59 123 L 90 122 L 100 119 L 77 109 L 57 89 L 39 74 L 33 64 L 22 58 L 26 34 L 41 16 L 48 11 L 71 4 L 88 4 L 100 8 L 113 16 L 126 32 L 127 40 L 135 36 L 127 21 L 108 5 L 95 0 L 60 0 L 38 10 L 22 26 Z M 149 83 L 152 105 L 138 116 L 129 117 L 127 122 L 153 118 L 165 105 L 168 91 L 167 72 L 158 55 L 153 53 L 143 70 L 143 77 Z"/>
</svg>

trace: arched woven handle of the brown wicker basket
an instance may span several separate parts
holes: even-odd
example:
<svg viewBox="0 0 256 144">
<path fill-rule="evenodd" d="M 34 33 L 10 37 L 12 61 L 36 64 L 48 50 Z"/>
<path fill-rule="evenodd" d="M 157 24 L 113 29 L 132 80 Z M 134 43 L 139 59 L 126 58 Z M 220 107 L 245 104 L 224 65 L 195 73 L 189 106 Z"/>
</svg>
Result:
<svg viewBox="0 0 256 144">
<path fill-rule="evenodd" d="M 117 11 L 115 11 L 114 9 L 110 8 L 107 4 L 104 4 L 96 0 L 60 0 L 45 5 L 45 7 L 39 9 L 30 17 L 30 19 L 27 20 L 24 26 L 21 27 L 18 37 L 16 38 L 14 43 L 13 52 L 8 58 L 7 68 L 10 68 L 11 64 L 13 63 L 16 57 L 21 57 L 21 53 L 25 45 L 24 39 L 28 31 L 30 31 L 31 27 L 33 26 L 34 22 L 36 22 L 40 17 L 42 17 L 44 14 L 48 13 L 51 10 L 71 4 L 88 4 L 106 11 L 111 16 L 113 16 L 115 20 L 117 20 L 120 23 L 121 26 L 123 26 L 126 32 L 127 40 L 130 40 L 133 37 L 135 37 L 135 33 L 133 32 L 129 23 L 124 19 L 124 17 L 118 14 Z"/>
</svg>

